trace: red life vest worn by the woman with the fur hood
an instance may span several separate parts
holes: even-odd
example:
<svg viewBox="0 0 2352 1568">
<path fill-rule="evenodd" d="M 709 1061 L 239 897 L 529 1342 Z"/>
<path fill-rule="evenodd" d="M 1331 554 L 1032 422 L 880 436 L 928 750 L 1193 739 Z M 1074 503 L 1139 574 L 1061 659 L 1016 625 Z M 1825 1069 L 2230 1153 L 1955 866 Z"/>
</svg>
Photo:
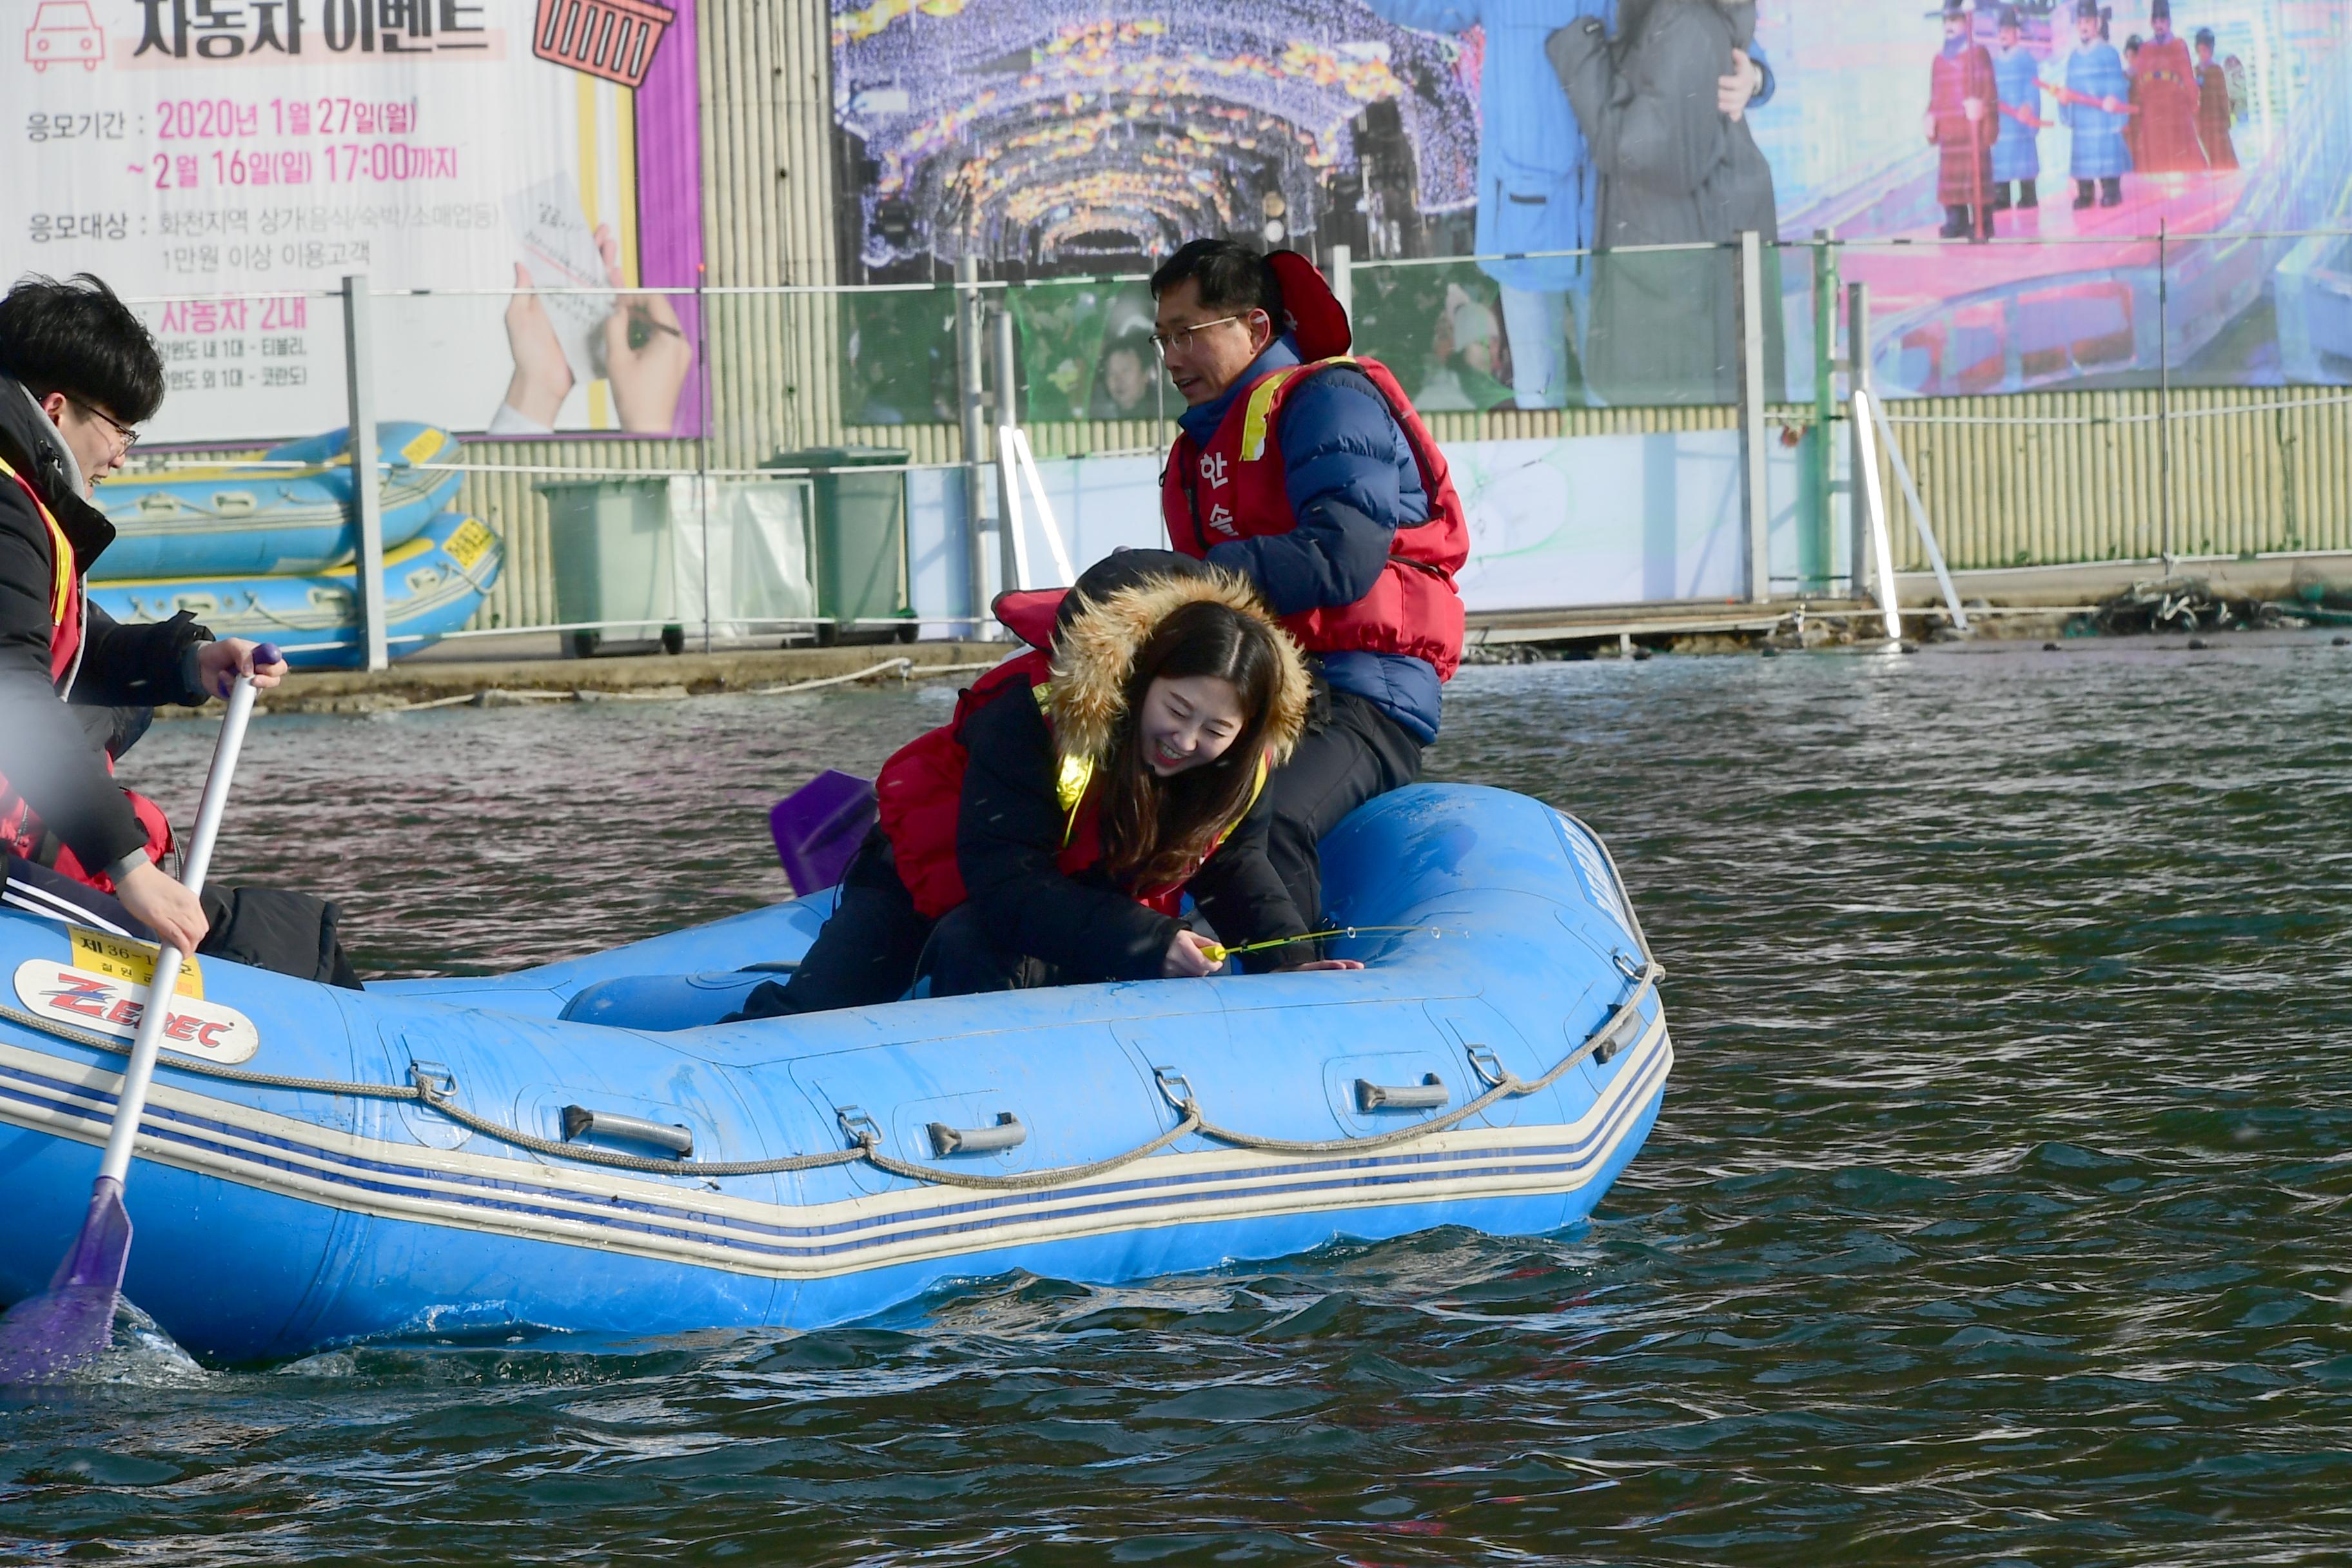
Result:
<svg viewBox="0 0 2352 1568">
<path fill-rule="evenodd" d="M 1051 604 L 1058 602 L 1061 595 L 1051 595 Z M 997 614 L 1004 616 L 1004 609 L 1000 607 Z M 1014 623 L 1011 618 L 1007 623 L 1016 625 L 1023 635 L 1030 632 L 1030 625 Z M 1051 607 L 1047 607 L 1040 630 L 1051 637 L 1051 625 L 1054 616 Z M 1007 658 L 955 698 L 953 719 L 924 736 L 915 736 L 882 764 L 882 773 L 875 778 L 882 832 L 889 837 L 891 858 L 898 863 L 898 882 L 913 893 L 915 910 L 924 919 L 938 919 L 969 898 L 964 872 L 955 863 L 955 820 L 964 802 L 964 766 L 971 759 L 964 750 L 964 722 L 1007 686 L 1023 684 L 1035 693 L 1037 708 L 1047 715 L 1047 729 L 1051 729 L 1051 682 L 1054 656 L 1044 649 Z M 1249 816 L 1249 806 L 1258 802 L 1265 773 L 1265 757 L 1258 757 L 1258 778 L 1249 792 L 1249 804 L 1242 806 L 1242 816 Z M 1054 788 L 1063 811 L 1061 853 L 1054 856 L 1054 865 L 1063 877 L 1077 877 L 1103 858 L 1101 776 L 1089 757 L 1061 757 Z M 1240 825 L 1240 818 L 1225 823 L 1209 853 L 1216 853 L 1216 846 L 1232 837 L 1232 830 Z M 1200 863 L 1192 870 L 1200 870 Z M 1190 872 L 1174 886 L 1143 889 L 1131 896 L 1136 903 L 1162 914 L 1176 914 L 1183 907 L 1185 882 L 1190 882 Z"/>
</svg>

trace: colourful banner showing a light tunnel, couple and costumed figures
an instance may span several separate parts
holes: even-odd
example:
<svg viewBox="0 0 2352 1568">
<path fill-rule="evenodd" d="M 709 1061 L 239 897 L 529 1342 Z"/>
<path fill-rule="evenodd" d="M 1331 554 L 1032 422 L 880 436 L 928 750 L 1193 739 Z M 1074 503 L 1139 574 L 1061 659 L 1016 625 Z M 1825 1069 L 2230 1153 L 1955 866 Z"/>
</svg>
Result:
<svg viewBox="0 0 2352 1568">
<path fill-rule="evenodd" d="M 1726 400 L 1726 263 L 1541 252 L 1740 228 L 1851 242 L 1889 395 L 2345 383 L 2347 35 L 2340 0 L 835 0 L 842 249 L 1348 244 L 1428 409 Z M 1809 397 L 1813 261 L 1773 277 Z M 1148 299 L 1070 289 L 1016 294 L 1040 416 L 1145 411 Z"/>
</svg>

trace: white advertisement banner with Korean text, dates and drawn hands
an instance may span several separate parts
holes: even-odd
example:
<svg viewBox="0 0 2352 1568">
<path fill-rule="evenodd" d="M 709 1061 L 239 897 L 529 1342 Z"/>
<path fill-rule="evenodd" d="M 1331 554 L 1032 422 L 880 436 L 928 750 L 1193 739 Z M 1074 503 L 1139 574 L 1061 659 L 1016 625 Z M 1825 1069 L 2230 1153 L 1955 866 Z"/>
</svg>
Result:
<svg viewBox="0 0 2352 1568">
<path fill-rule="evenodd" d="M 694 80 L 694 0 L 16 0 L 0 275 L 139 301 L 153 440 L 343 423 L 350 273 L 388 418 L 691 435 Z"/>
</svg>

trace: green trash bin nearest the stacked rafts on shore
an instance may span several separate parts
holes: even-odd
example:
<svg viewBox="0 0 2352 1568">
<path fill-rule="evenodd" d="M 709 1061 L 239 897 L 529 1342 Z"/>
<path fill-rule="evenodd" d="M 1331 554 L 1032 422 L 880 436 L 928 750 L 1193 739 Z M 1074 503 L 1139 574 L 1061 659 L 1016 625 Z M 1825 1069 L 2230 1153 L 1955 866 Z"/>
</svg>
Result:
<svg viewBox="0 0 2352 1568">
<path fill-rule="evenodd" d="M 564 632 L 564 654 L 593 656 L 607 642 L 659 637 L 663 651 L 687 644 L 670 567 L 668 480 L 553 480 L 548 557 L 555 567 L 555 621 L 593 630 Z"/>
</svg>

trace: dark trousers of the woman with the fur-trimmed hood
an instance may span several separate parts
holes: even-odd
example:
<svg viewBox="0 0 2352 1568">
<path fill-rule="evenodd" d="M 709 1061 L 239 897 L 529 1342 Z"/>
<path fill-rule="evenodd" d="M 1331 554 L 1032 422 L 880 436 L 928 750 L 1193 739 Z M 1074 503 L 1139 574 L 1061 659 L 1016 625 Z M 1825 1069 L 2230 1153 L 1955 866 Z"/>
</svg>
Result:
<svg viewBox="0 0 2352 1568">
<path fill-rule="evenodd" d="M 997 947 L 969 903 L 936 922 L 924 919 L 898 879 L 889 839 L 875 827 L 842 875 L 833 919 L 809 943 L 793 978 L 755 985 L 743 997 L 743 1011 L 727 1023 L 882 1006 L 903 997 L 924 973 L 931 976 L 934 997 L 1068 983 L 1056 966 Z"/>
</svg>

